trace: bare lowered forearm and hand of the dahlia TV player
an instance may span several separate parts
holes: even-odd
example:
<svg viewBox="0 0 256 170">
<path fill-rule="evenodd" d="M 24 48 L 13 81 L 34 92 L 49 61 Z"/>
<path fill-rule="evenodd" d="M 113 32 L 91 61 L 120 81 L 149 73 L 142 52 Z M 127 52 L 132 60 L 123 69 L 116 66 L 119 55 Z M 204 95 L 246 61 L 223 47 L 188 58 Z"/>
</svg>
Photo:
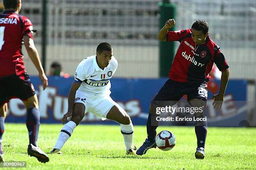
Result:
<svg viewBox="0 0 256 170">
<path fill-rule="evenodd" d="M 220 91 L 217 95 L 213 95 L 212 99 L 214 102 L 212 105 L 215 110 L 220 110 L 223 100 L 224 100 L 224 94 L 225 90 L 228 84 L 228 77 L 229 77 L 229 68 L 221 72 L 221 79 L 220 79 Z"/>
</svg>

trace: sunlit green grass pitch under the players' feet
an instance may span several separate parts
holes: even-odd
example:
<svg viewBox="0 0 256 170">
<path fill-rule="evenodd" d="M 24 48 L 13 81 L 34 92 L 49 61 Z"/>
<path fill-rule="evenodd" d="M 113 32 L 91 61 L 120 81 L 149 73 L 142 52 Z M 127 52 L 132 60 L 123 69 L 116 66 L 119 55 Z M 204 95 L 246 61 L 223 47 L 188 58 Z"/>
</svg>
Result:
<svg viewBox="0 0 256 170">
<path fill-rule="evenodd" d="M 46 153 L 54 147 L 62 125 L 40 127 L 38 145 Z M 177 139 L 170 151 L 148 150 L 143 156 L 126 156 L 120 127 L 79 125 L 62 148 L 63 155 L 50 155 L 46 164 L 27 155 L 25 124 L 5 124 L 3 141 L 5 161 L 27 161 L 27 169 L 131 169 L 131 170 L 216 170 L 256 169 L 256 128 L 208 128 L 205 159 L 196 160 L 194 127 L 159 127 L 171 130 Z M 146 138 L 146 127 L 134 127 L 134 145 Z M 18 168 L 14 168 L 18 169 Z M 24 168 L 20 168 L 24 169 Z"/>
</svg>

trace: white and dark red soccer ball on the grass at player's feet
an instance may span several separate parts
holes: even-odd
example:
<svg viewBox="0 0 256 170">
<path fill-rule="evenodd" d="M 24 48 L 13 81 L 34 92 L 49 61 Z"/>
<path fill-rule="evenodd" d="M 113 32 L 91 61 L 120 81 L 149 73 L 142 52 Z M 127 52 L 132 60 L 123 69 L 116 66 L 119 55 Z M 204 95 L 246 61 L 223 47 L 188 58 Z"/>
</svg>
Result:
<svg viewBox="0 0 256 170">
<path fill-rule="evenodd" d="M 168 130 L 161 131 L 156 135 L 156 146 L 164 151 L 171 150 L 176 143 L 174 134 Z"/>
</svg>

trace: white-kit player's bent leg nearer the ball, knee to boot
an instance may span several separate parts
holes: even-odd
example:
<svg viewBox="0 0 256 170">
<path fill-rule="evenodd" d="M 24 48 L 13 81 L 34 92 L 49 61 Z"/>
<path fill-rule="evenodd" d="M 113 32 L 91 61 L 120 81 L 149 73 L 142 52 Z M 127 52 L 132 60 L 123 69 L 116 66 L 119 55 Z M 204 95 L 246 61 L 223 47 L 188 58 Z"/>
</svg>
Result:
<svg viewBox="0 0 256 170">
<path fill-rule="evenodd" d="M 129 115 L 123 110 L 119 105 L 114 105 L 107 114 L 107 118 L 115 120 L 120 123 L 121 133 L 123 134 L 126 154 L 127 155 L 136 155 L 136 148 L 133 146 L 133 123 Z"/>
</svg>

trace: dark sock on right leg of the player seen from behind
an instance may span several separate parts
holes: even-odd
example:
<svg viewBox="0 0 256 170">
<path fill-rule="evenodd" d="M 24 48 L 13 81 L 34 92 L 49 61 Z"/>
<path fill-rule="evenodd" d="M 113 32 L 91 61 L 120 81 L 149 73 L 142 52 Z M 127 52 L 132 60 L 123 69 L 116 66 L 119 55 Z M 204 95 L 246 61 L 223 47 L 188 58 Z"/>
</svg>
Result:
<svg viewBox="0 0 256 170">
<path fill-rule="evenodd" d="M 40 113 L 36 107 L 29 108 L 27 111 L 27 121 L 29 144 L 37 146 L 37 138 L 40 126 Z"/>
</svg>

